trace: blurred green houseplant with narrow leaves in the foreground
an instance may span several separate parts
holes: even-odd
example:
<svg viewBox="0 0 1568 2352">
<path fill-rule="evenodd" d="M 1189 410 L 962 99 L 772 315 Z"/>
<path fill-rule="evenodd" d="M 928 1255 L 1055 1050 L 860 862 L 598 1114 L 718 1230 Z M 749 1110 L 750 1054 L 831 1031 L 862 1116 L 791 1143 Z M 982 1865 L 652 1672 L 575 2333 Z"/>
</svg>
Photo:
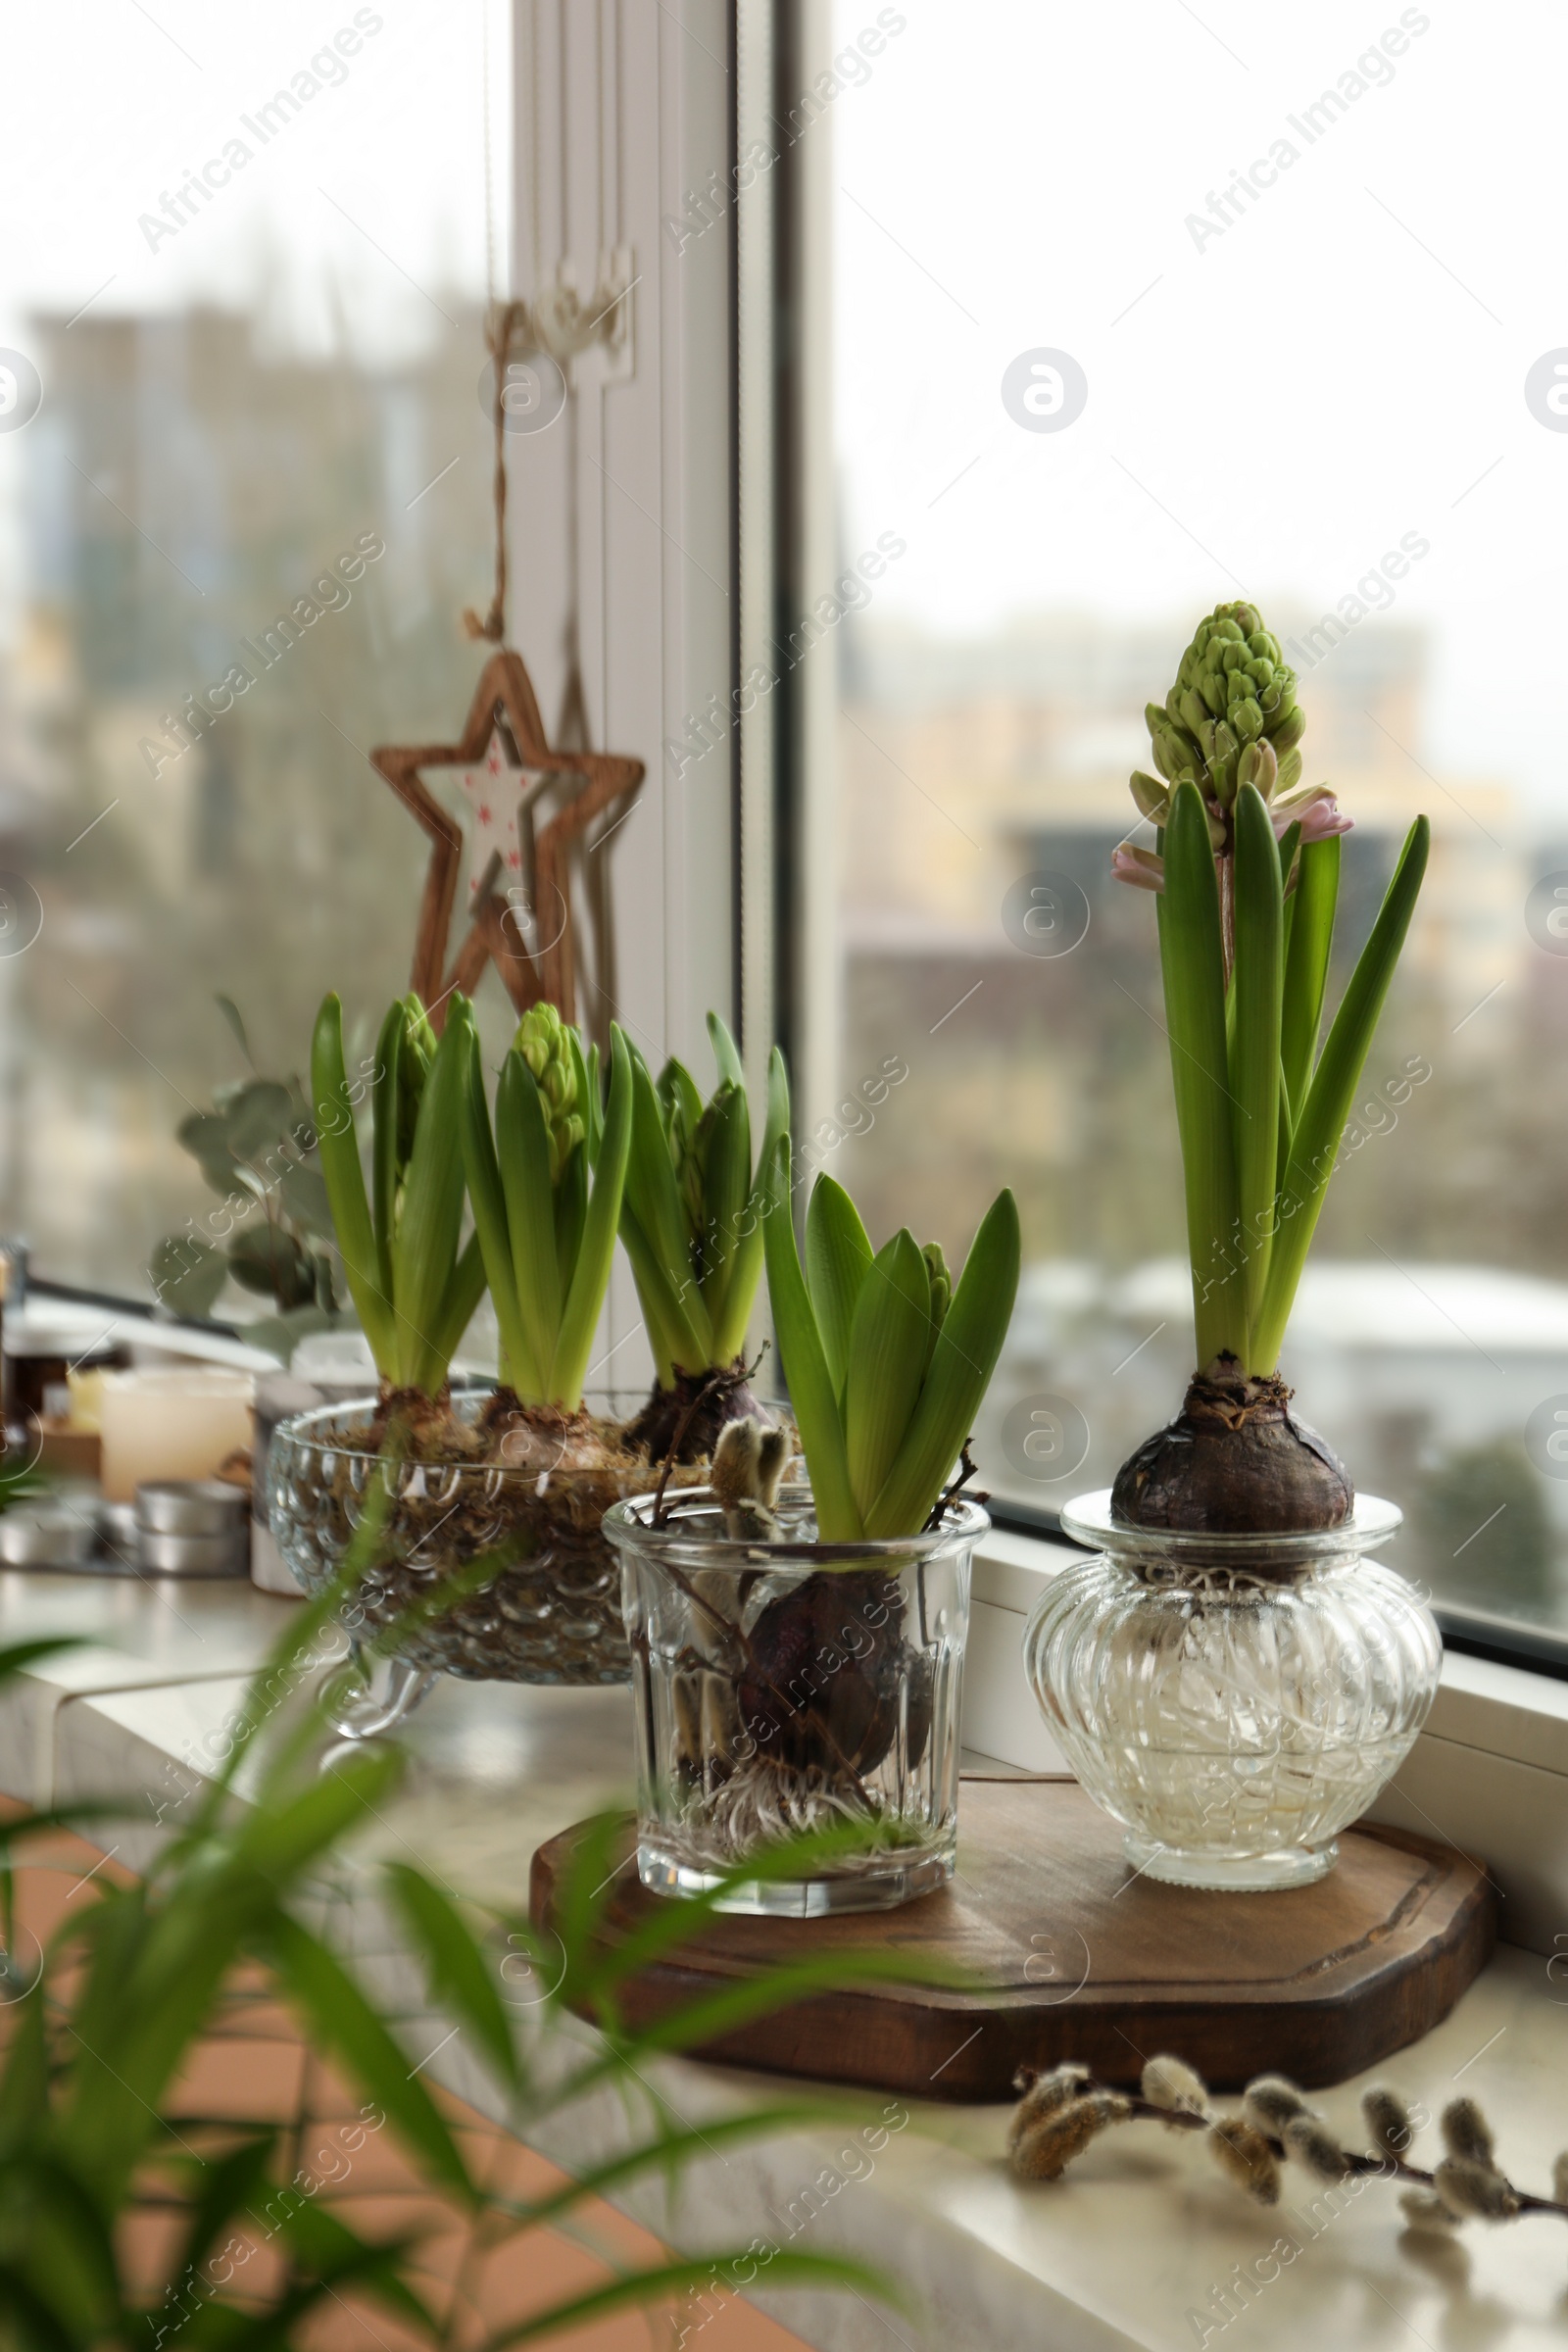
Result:
<svg viewBox="0 0 1568 2352">
<path fill-rule="evenodd" d="M 433 2345 L 503 2352 L 555 2340 L 616 2310 L 668 2305 L 684 2293 L 710 2293 L 715 2281 L 757 2274 L 755 2246 L 710 2246 L 701 2258 L 625 2265 L 607 2284 L 524 2321 L 475 2328 L 458 2291 L 433 2296 L 416 2239 L 374 2241 L 315 2194 L 320 2183 L 301 2190 L 289 2126 L 261 2114 L 205 2119 L 179 2098 L 193 2046 L 223 2020 L 230 1973 L 259 1964 L 320 2056 L 378 2110 L 423 2183 L 458 2211 L 470 2256 L 569 2227 L 599 2194 L 679 2178 L 703 2154 L 724 2154 L 733 2143 L 825 2112 L 820 2103 L 773 2103 L 696 2131 L 649 2091 L 646 2074 L 661 2056 L 712 2039 L 741 2016 L 785 2006 L 823 1983 L 823 1964 L 802 1962 L 646 2030 L 628 2027 L 621 1992 L 637 1964 L 689 1936 L 717 1896 L 661 1905 L 649 1929 L 602 1950 L 607 1853 L 616 1837 L 607 1820 L 583 1837 L 562 1889 L 559 1943 L 550 1950 L 517 1919 L 496 1922 L 491 1938 L 475 1933 L 451 1891 L 409 1863 L 381 1872 L 378 1891 L 423 1966 L 430 2004 L 465 2032 L 510 2129 L 531 2136 L 604 2089 L 621 2091 L 628 2117 L 637 2110 L 646 2117 L 642 2129 L 630 2124 L 621 2154 L 548 2194 L 508 2199 L 475 2178 L 442 2105 L 418 2067 L 409 2067 L 397 2018 L 376 2006 L 362 1978 L 303 1917 L 315 1910 L 334 1846 L 383 1813 L 402 1766 L 388 1748 L 329 1759 L 317 1771 L 320 1722 L 296 1696 L 317 1637 L 369 1557 L 374 1517 L 369 1510 L 362 1557 L 292 1621 L 240 1710 L 228 1762 L 190 1792 L 146 1877 L 113 1884 L 96 1875 L 49 1938 L 38 1983 L 12 1969 L 12 2030 L 0 2065 L 0 2340 L 16 2352 L 169 2343 L 193 2352 L 273 2352 L 301 2340 L 310 2317 L 343 2296 L 381 2305 Z M 31 1642 L 0 1653 L 0 1684 L 59 1646 L 66 1644 Z M 237 1797 L 242 1766 L 247 1795 Z M 73 1806 L 0 1828 L 9 1952 L 16 1952 L 16 1860 L 56 1828 L 115 1811 Z M 362 1891 L 369 1898 L 376 1889 L 362 1879 Z M 501 1990 L 498 1957 L 508 1955 L 522 1955 L 534 1980 L 550 1987 L 527 2032 Z M 898 1964 L 867 1952 L 844 1962 L 844 1971 L 891 1976 Z M 599 2037 L 588 2044 L 578 2037 L 562 2051 L 569 2011 L 592 2016 Z M 127 2225 L 150 2216 L 162 2227 L 136 2239 Z M 268 2260 L 256 2260 L 261 2253 Z M 886 2293 L 858 2263 L 788 2246 L 766 2253 L 766 2277 L 769 2286 Z"/>
</svg>

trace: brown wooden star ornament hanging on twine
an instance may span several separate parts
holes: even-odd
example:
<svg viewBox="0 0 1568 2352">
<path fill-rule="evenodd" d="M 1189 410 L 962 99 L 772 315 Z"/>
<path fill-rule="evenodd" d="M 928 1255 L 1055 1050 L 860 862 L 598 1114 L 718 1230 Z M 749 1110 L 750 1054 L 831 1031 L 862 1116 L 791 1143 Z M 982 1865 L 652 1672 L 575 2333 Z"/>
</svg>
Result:
<svg viewBox="0 0 1568 2352">
<path fill-rule="evenodd" d="M 550 1002 L 562 1021 L 576 1021 L 583 967 L 574 851 L 592 854 L 621 823 L 642 783 L 642 760 L 552 750 L 522 656 L 498 652 L 480 673 L 456 743 L 383 743 L 371 764 L 430 837 L 411 985 L 433 1025 L 444 1025 L 456 988 L 475 993 L 487 964 L 520 1014 Z M 442 807 L 423 769 L 458 771 L 468 828 Z M 463 868 L 465 929 L 447 964 Z"/>
</svg>

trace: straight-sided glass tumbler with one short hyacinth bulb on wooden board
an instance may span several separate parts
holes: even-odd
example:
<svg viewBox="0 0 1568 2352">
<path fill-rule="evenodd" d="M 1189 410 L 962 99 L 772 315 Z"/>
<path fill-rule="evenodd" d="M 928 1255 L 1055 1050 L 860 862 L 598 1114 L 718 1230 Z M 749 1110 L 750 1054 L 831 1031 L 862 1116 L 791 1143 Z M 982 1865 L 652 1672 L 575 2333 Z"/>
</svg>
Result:
<svg viewBox="0 0 1568 2352">
<path fill-rule="evenodd" d="M 969 1564 L 990 1519 L 954 1503 L 933 1534 L 818 1543 L 811 1491 L 780 1536 L 736 1543 L 708 1489 L 616 1503 L 637 1710 L 637 1872 L 708 1893 L 802 1830 L 865 1844 L 719 1907 L 813 1919 L 893 1910 L 952 1877 Z"/>
</svg>

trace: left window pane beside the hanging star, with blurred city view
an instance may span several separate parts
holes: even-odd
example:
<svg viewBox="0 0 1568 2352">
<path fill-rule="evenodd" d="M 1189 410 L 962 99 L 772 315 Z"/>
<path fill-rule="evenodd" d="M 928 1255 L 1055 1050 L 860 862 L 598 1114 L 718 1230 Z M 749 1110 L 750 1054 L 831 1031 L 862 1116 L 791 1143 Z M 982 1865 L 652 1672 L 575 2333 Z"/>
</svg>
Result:
<svg viewBox="0 0 1568 2352">
<path fill-rule="evenodd" d="M 244 1075 L 216 993 L 287 1075 L 327 988 L 367 1018 L 407 985 L 425 842 L 367 753 L 475 677 L 503 28 L 7 28 L 0 1214 L 45 1275 L 146 1296 L 205 1232 L 174 1129 Z"/>
</svg>

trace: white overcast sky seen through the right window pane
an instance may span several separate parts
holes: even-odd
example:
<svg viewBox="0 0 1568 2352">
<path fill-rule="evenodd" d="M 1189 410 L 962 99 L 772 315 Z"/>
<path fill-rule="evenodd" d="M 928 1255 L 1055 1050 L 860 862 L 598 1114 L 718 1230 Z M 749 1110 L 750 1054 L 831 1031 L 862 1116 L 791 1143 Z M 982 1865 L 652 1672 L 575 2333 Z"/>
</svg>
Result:
<svg viewBox="0 0 1568 2352">
<path fill-rule="evenodd" d="M 1392 609 L 1436 630 L 1427 755 L 1556 797 L 1568 433 L 1523 386 L 1568 346 L 1568 14 L 898 14 L 832 101 L 846 536 L 910 541 L 882 609 L 959 633 L 1023 607 L 1185 623 L 1239 590 L 1324 612 L 1415 534 Z M 839 47 L 875 24 L 839 0 Z M 1326 89 L 1345 111 L 1314 122 Z M 1258 158 L 1274 183 L 1199 242 L 1187 214 Z M 1086 374 L 1060 433 L 1001 407 L 1034 348 Z"/>
</svg>

